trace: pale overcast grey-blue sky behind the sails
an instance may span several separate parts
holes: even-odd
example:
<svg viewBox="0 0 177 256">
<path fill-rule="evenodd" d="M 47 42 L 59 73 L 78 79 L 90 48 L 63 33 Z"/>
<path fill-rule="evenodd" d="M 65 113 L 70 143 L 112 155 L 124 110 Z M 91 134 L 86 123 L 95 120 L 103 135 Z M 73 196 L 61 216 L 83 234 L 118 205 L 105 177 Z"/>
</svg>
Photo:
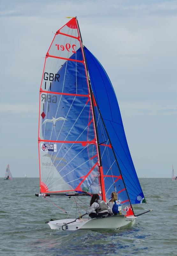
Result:
<svg viewBox="0 0 177 256">
<path fill-rule="evenodd" d="M 65 16 L 77 16 L 114 86 L 138 177 L 177 171 L 177 1 L 0 3 L 1 177 L 7 164 L 14 177 L 39 177 L 39 88 Z"/>
</svg>

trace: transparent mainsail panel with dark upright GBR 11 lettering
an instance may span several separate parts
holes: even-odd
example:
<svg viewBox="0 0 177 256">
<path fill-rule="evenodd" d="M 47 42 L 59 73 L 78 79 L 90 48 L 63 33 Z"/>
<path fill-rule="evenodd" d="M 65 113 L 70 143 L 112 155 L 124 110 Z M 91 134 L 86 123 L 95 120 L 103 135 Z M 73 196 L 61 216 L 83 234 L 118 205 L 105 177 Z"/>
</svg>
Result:
<svg viewBox="0 0 177 256">
<path fill-rule="evenodd" d="M 43 91 L 88 94 L 84 64 L 58 58 L 46 58 L 42 75 Z"/>
</svg>

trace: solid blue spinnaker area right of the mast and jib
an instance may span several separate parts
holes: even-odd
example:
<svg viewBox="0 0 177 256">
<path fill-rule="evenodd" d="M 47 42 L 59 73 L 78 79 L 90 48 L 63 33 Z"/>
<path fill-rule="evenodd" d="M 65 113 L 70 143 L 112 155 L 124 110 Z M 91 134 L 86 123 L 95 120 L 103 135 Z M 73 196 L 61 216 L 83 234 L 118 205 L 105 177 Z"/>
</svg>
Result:
<svg viewBox="0 0 177 256">
<path fill-rule="evenodd" d="M 129 152 L 113 86 L 100 62 L 86 47 L 85 55 L 93 94 L 109 134 L 131 204 L 145 203 L 144 194 Z"/>
</svg>

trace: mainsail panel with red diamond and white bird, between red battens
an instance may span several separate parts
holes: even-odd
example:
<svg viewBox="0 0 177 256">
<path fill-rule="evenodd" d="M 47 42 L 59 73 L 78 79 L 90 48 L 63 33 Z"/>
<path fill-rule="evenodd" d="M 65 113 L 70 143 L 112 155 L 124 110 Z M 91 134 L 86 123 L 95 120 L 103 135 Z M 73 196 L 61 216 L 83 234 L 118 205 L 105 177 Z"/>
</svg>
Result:
<svg viewBox="0 0 177 256">
<path fill-rule="evenodd" d="M 39 137 L 49 141 L 94 140 L 89 98 L 41 92 Z"/>
</svg>

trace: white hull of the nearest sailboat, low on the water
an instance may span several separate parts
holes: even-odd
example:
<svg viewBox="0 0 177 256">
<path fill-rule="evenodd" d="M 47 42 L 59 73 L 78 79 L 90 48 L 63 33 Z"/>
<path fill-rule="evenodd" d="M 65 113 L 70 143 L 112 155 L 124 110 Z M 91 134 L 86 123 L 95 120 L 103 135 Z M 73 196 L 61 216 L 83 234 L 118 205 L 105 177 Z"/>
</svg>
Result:
<svg viewBox="0 0 177 256">
<path fill-rule="evenodd" d="M 117 229 L 128 225 L 137 217 L 124 215 L 109 216 L 107 218 L 94 218 L 94 219 L 63 219 L 52 220 L 48 222 L 51 229 L 59 230 L 78 230 L 78 229 L 90 229 L 90 230 L 104 230 L 104 229 Z M 74 221 L 74 222 L 72 222 Z M 72 223 L 69 223 L 72 222 Z"/>
</svg>

